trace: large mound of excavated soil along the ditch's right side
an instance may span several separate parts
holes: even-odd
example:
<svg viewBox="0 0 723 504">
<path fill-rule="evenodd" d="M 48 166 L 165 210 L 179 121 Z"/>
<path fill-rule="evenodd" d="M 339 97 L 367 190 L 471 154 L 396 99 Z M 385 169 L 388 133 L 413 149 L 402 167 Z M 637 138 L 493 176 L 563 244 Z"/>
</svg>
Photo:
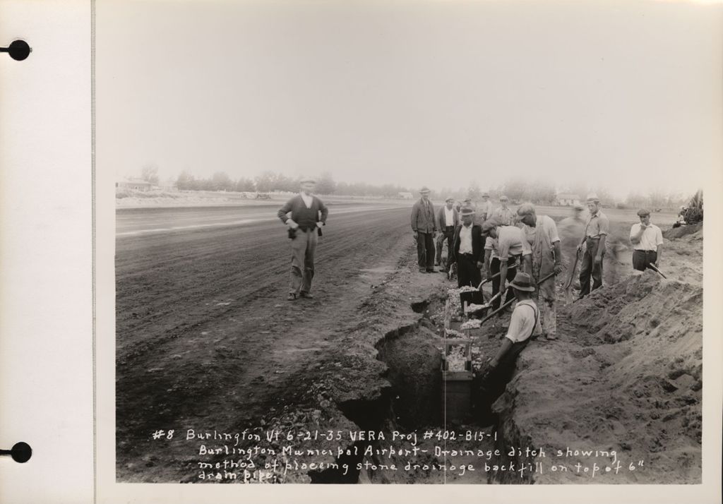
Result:
<svg viewBox="0 0 723 504">
<path fill-rule="evenodd" d="M 547 467 L 612 463 L 570 448 L 615 450 L 625 469 L 548 470 L 534 482 L 701 482 L 702 299 L 699 284 L 648 270 L 558 309 L 560 340 L 531 343 L 495 403 L 502 437 L 544 447 Z"/>
</svg>

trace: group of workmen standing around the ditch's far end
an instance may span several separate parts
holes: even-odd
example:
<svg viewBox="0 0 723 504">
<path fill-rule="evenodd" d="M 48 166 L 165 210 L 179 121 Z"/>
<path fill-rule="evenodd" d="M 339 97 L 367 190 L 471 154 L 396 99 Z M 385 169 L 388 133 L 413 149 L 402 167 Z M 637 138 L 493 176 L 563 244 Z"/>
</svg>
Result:
<svg viewBox="0 0 723 504">
<path fill-rule="evenodd" d="M 435 266 L 440 266 L 442 247 L 447 242 L 448 255 L 440 270 L 442 273 L 456 268 L 459 287 L 478 287 L 483 276 L 491 279 L 492 309 L 513 299 L 515 283 L 532 286 L 532 298 L 537 300 L 542 315 L 539 317 L 542 334 L 548 340 L 557 339 L 555 277 L 564 268 L 555 221 L 547 215 L 537 215 L 531 203 L 523 203 L 513 211 L 504 195 L 500 196 L 500 206 L 494 208 L 487 192 L 482 194 L 479 208 L 475 208 L 471 198 L 461 205 L 448 197 L 445 205 L 435 212 L 429 200 L 429 189 L 422 187 L 419 193 L 421 198 L 414 203 L 411 212 L 411 228 L 416 239 L 420 273 L 437 271 Z M 579 241 L 574 252 L 578 256 L 581 254 L 580 299 L 602 286 L 605 242 L 609 234 L 609 220 L 594 193 L 587 197 L 587 208 L 589 215 L 585 221 L 581 218 L 581 206 L 574 208 L 572 219 L 573 222 L 580 221 L 583 228 L 583 232 L 576 235 Z M 633 268 L 657 268 L 662 252 L 662 233 L 650 223 L 649 210 L 639 210 L 638 216 L 640 222 L 630 230 Z M 570 223 L 565 221 L 561 224 L 567 231 Z M 510 286 L 506 285 L 508 282 Z"/>
</svg>

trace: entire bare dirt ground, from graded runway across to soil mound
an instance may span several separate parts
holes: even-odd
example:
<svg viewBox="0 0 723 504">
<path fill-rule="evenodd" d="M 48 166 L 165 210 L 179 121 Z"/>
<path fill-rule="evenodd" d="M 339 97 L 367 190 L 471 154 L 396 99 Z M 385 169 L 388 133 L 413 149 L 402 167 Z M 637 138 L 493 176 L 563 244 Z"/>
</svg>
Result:
<svg viewBox="0 0 723 504">
<path fill-rule="evenodd" d="M 558 309 L 560 340 L 530 344 L 508 393 L 494 405 L 499 422 L 483 425 L 474 417 L 452 422 L 445 414 L 441 315 L 452 284 L 440 273 L 416 271 L 408 208 L 332 210 L 317 250 L 316 299 L 293 303 L 285 300 L 288 239 L 273 216 L 256 220 L 248 216 L 257 210 L 239 208 L 236 215 L 227 208 L 229 215 L 198 210 L 184 221 L 163 211 L 169 210 L 118 215 L 119 481 L 208 481 L 200 479 L 210 471 L 200 471 L 199 463 L 234 458 L 221 453 L 223 447 L 255 449 L 259 469 L 273 461 L 299 466 L 250 471 L 252 481 L 700 481 L 702 230 L 666 244 L 668 280 L 651 272 L 633 276 L 623 246 L 608 257 L 606 281 L 609 274 L 614 281 Z M 539 213 L 559 221 L 568 210 Z M 623 244 L 635 215 L 608 215 Z M 154 231 L 170 228 L 176 229 Z M 505 322 L 491 320 L 471 332 L 477 371 L 500 345 L 495 336 L 504 334 Z M 203 446 L 219 453 L 202 453 L 197 440 L 186 439 L 189 429 L 213 433 Z M 157 430 L 176 434 L 153 439 Z M 262 440 L 219 440 L 220 433 L 244 430 Z M 359 431 L 367 433 L 364 439 Z M 268 432 L 294 432 L 294 445 L 320 453 L 292 456 L 283 451 L 289 443 L 263 437 Z M 303 443 L 296 437 L 301 432 L 338 434 Z M 369 440 L 369 432 L 376 439 Z M 418 433 L 419 440 L 392 443 L 395 432 Z M 425 432 L 432 435 L 424 439 Z M 442 437 L 445 432 L 454 435 Z M 357 433 L 354 439 L 350 433 Z M 511 445 L 544 447 L 548 455 L 451 453 L 506 452 Z M 390 446 L 416 446 L 420 453 L 383 451 Z M 615 450 L 626 464 L 645 464 L 598 479 L 479 470 L 485 462 L 510 461 L 549 469 L 549 453 L 568 447 Z M 565 458 L 565 464 L 593 462 Z M 608 458 L 595 460 L 609 464 Z M 409 461 L 408 469 L 387 467 Z M 312 463 L 321 465 L 301 466 Z M 351 469 L 345 473 L 334 463 Z M 463 464 L 478 470 L 462 474 Z"/>
</svg>

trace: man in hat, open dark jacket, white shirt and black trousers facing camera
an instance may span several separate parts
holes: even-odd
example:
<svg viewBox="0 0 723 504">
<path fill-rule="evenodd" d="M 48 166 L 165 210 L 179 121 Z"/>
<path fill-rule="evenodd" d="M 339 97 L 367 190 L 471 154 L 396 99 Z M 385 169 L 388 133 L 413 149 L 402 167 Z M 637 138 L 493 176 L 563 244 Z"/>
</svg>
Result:
<svg viewBox="0 0 723 504">
<path fill-rule="evenodd" d="M 484 238 L 482 227 L 474 223 L 474 208 L 462 207 L 462 223 L 454 234 L 452 252 L 457 262 L 457 286 L 479 286 L 482 282 Z"/>
</svg>

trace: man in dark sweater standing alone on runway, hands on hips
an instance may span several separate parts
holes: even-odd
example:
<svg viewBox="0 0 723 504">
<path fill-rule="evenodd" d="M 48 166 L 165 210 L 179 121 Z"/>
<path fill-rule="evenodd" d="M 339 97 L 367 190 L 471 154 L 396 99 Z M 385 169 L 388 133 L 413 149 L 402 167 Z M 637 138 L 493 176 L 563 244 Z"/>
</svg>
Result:
<svg viewBox="0 0 723 504">
<path fill-rule="evenodd" d="M 288 226 L 288 237 L 291 238 L 291 285 L 286 298 L 289 301 L 298 297 L 314 297 L 309 294 L 314 278 L 314 254 L 320 228 L 325 226 L 329 215 L 329 209 L 322 200 L 312 196 L 315 187 L 314 179 L 301 179 L 301 192 L 278 210 L 278 218 Z M 291 218 L 288 213 L 291 213 Z"/>
</svg>

